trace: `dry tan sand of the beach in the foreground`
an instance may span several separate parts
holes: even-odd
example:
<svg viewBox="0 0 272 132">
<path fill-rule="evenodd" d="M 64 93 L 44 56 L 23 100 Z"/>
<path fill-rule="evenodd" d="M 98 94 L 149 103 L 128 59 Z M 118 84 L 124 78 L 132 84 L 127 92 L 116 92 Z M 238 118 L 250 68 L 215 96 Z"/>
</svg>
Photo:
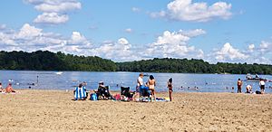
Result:
<svg viewBox="0 0 272 132">
<path fill-rule="evenodd" d="M 18 91 L 0 94 L 0 131 L 272 131 L 272 94 L 173 93 L 172 102 L 145 103 Z"/>
</svg>

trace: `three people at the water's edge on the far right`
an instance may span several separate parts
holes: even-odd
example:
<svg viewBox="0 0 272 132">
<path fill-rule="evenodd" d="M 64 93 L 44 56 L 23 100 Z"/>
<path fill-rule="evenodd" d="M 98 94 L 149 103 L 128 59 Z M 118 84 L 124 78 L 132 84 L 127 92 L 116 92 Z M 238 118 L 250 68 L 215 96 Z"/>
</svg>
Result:
<svg viewBox="0 0 272 132">
<path fill-rule="evenodd" d="M 257 94 L 264 94 L 265 93 L 265 89 L 266 89 L 266 82 L 265 80 L 259 80 L 259 88 L 260 88 L 260 91 L 256 91 Z M 238 79 L 237 81 L 237 87 L 238 87 L 238 93 L 241 93 L 242 92 L 242 85 L 243 85 L 243 81 L 241 79 Z M 246 86 L 246 93 L 253 93 L 252 91 L 252 85 L 248 84 Z"/>
</svg>

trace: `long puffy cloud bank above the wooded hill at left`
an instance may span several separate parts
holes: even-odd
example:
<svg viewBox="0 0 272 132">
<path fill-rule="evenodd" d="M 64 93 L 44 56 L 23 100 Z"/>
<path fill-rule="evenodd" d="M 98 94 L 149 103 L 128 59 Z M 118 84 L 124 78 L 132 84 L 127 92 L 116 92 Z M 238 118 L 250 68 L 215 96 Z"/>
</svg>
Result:
<svg viewBox="0 0 272 132">
<path fill-rule="evenodd" d="M 66 38 L 61 34 L 44 33 L 43 29 L 24 24 L 19 31 L 0 32 L 0 46 L 5 51 L 48 50 L 83 55 L 86 49 L 92 48 L 92 43 L 79 32 L 73 32 L 70 38 Z"/>
</svg>

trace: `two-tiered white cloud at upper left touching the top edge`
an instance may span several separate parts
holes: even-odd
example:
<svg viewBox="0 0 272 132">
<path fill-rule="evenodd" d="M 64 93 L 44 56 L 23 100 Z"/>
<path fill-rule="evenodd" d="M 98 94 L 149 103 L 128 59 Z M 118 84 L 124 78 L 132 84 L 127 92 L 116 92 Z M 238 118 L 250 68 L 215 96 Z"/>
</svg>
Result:
<svg viewBox="0 0 272 132">
<path fill-rule="evenodd" d="M 64 24 L 69 20 L 69 12 L 82 8 L 77 0 L 24 0 L 43 12 L 35 19 L 36 24 Z"/>
</svg>

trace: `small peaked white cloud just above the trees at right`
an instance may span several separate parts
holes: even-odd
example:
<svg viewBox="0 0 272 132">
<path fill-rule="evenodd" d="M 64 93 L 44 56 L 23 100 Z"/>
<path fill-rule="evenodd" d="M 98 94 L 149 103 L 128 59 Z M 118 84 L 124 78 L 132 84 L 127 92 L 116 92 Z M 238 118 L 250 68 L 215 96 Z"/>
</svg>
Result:
<svg viewBox="0 0 272 132">
<path fill-rule="evenodd" d="M 215 55 L 218 61 L 245 61 L 249 57 L 247 54 L 233 48 L 228 42 L 219 51 L 215 52 Z"/>
</svg>

